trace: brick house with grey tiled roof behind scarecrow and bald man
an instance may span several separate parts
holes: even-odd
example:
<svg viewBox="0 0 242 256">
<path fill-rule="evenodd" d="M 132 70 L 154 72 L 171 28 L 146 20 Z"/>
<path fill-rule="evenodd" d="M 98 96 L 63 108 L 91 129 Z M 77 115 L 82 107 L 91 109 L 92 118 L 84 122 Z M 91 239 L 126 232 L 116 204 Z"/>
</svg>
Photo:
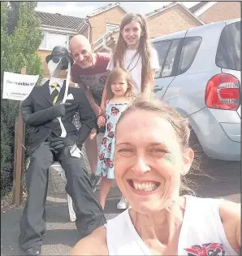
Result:
<svg viewBox="0 0 242 256">
<path fill-rule="evenodd" d="M 118 28 L 126 12 L 118 2 L 98 8 L 92 14 L 87 15 L 85 19 L 37 11 L 44 34 L 41 46 L 39 47 L 44 76 L 50 76 L 47 64 L 45 63 L 45 57 L 50 54 L 54 46 L 62 45 L 68 49 L 71 38 L 76 34 L 83 34 L 93 43 L 102 37 L 103 34 Z M 102 50 L 109 51 L 106 46 Z M 60 76 L 66 77 L 66 74 L 62 72 Z"/>
</svg>

